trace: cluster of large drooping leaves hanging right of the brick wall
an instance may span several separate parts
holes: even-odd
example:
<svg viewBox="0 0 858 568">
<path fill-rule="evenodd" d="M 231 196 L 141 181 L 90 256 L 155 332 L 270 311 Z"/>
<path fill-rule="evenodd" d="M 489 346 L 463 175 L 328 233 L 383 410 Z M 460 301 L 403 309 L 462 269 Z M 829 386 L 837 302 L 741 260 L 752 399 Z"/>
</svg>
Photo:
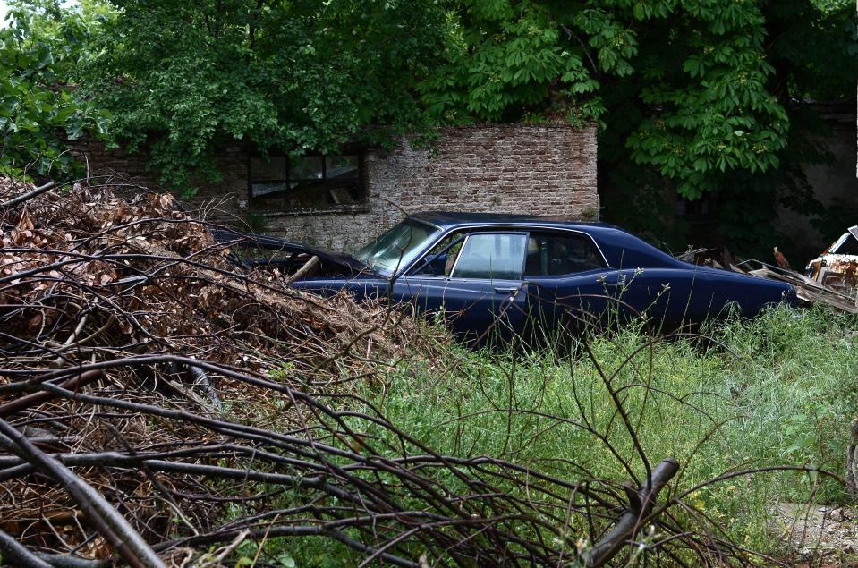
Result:
<svg viewBox="0 0 858 568">
<path fill-rule="evenodd" d="M 656 81 L 639 92 L 642 103 L 658 112 L 643 120 L 626 145 L 634 161 L 654 166 L 675 181 L 676 191 L 694 199 L 716 189 L 713 172 L 777 167 L 788 121 L 767 89 L 774 69 L 765 61 L 760 7 L 682 3 L 677 9 L 670 30 L 657 26 L 672 38 L 648 54 L 655 56 L 646 74 Z"/>
</svg>

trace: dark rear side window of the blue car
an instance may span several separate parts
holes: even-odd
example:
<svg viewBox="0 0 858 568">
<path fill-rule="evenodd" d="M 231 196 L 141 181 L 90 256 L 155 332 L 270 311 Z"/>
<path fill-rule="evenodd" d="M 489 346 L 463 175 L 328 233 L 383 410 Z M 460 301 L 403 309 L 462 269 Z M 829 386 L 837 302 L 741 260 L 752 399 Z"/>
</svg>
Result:
<svg viewBox="0 0 858 568">
<path fill-rule="evenodd" d="M 580 233 L 531 233 L 525 276 L 562 276 L 606 267 L 599 250 Z"/>
</svg>

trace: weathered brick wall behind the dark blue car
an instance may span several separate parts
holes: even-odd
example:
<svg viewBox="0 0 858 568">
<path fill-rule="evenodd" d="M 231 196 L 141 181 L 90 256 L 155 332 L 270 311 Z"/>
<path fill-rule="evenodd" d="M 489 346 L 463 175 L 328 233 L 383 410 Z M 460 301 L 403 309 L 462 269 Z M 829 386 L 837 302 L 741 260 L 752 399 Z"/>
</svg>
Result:
<svg viewBox="0 0 858 568">
<path fill-rule="evenodd" d="M 112 168 L 155 186 L 145 157 L 79 146 L 90 169 Z M 208 184 L 189 201 L 200 214 L 241 226 L 261 220 L 266 232 L 332 250 L 354 250 L 394 225 L 406 212 L 463 210 L 527 213 L 593 219 L 596 191 L 596 133 L 561 125 L 493 124 L 439 131 L 434 149 L 404 143 L 390 152 L 367 153 L 365 204 L 276 211 L 247 207 L 247 157 L 228 148 L 219 163 L 223 180 Z"/>
</svg>

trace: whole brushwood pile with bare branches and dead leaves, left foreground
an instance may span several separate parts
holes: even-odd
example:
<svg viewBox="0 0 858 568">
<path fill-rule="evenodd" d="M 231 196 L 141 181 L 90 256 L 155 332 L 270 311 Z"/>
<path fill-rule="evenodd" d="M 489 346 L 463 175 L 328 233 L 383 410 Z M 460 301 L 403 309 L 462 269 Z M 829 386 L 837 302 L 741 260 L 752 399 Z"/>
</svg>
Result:
<svg viewBox="0 0 858 568">
<path fill-rule="evenodd" d="M 443 456 L 354 410 L 401 360 L 445 372 L 446 337 L 236 267 L 169 195 L 0 179 L 0 240 L 2 564 L 234 565 L 254 543 L 265 565 L 265 541 L 316 537 L 365 564 L 600 565 L 641 527 L 659 558 L 749 558 L 655 507 L 655 474 L 627 467 L 638 495 Z"/>
</svg>

